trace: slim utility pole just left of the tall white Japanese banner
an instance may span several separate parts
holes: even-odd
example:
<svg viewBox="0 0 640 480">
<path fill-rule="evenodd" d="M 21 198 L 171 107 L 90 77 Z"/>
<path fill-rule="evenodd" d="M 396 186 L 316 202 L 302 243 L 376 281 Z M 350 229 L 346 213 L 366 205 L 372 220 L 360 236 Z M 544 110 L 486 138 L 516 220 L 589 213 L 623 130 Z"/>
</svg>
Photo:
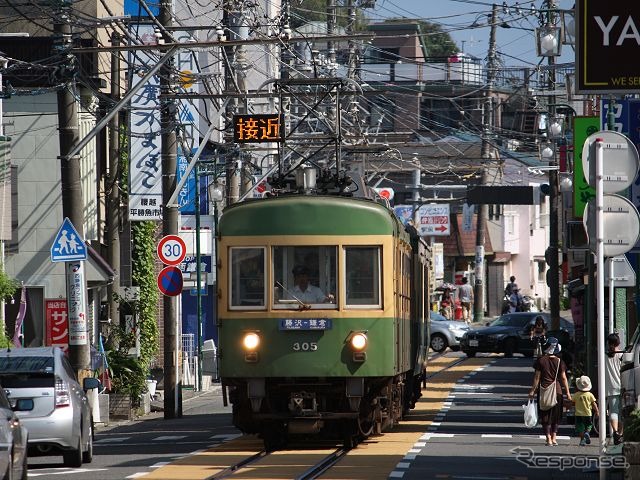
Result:
<svg viewBox="0 0 640 480">
<path fill-rule="evenodd" d="M 111 45 L 120 44 L 120 34 L 113 32 Z M 120 100 L 120 55 L 111 53 L 111 99 Z M 117 276 L 107 286 L 109 317 L 114 325 L 120 324 L 119 303 L 116 294 L 120 285 L 120 123 L 118 115 L 109 121 L 109 172 L 107 176 L 107 261 Z"/>
</svg>

